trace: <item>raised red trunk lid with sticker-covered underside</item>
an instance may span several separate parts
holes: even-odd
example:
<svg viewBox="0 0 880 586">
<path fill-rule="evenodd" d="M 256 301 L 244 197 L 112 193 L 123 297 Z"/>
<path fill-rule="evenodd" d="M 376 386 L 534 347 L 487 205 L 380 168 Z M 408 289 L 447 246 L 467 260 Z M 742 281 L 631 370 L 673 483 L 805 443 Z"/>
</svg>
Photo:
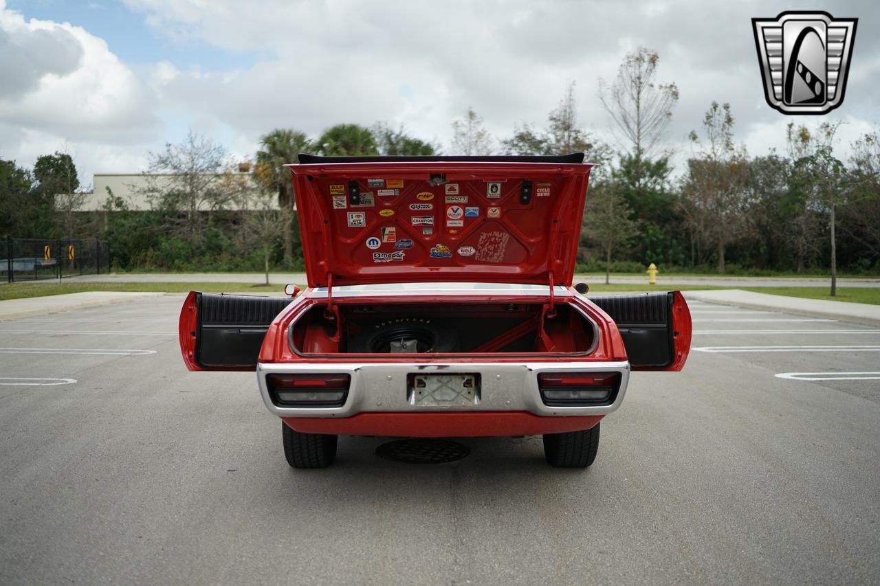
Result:
<svg viewBox="0 0 880 586">
<path fill-rule="evenodd" d="M 312 157 L 293 172 L 310 287 L 570 285 L 590 168 L 561 157 Z"/>
</svg>

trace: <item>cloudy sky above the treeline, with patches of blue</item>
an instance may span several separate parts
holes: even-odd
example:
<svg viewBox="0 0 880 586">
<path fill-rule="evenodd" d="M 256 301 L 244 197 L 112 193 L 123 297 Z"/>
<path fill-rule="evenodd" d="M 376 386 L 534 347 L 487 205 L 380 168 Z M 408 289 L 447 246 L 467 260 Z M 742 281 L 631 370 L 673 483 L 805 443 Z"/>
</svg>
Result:
<svg viewBox="0 0 880 586">
<path fill-rule="evenodd" d="M 859 18 L 853 62 L 840 108 L 790 117 L 766 105 L 751 18 L 809 9 Z M 448 150 L 468 106 L 505 138 L 572 81 L 580 125 L 612 141 L 597 80 L 639 46 L 678 84 L 678 157 L 714 99 L 752 155 L 784 149 L 788 121 L 843 121 L 843 150 L 880 122 L 876 0 L 0 0 L 0 158 L 66 150 L 89 185 L 189 128 L 246 158 L 272 128 L 376 121 Z"/>
</svg>

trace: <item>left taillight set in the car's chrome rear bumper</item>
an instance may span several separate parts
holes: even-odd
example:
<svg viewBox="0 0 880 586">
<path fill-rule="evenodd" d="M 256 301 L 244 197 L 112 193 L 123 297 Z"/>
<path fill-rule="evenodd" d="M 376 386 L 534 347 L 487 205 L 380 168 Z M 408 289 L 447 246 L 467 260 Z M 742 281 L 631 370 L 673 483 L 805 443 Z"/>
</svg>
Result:
<svg viewBox="0 0 880 586">
<path fill-rule="evenodd" d="M 348 396 L 347 374 L 269 374 L 266 385 L 279 407 L 342 407 Z"/>
</svg>

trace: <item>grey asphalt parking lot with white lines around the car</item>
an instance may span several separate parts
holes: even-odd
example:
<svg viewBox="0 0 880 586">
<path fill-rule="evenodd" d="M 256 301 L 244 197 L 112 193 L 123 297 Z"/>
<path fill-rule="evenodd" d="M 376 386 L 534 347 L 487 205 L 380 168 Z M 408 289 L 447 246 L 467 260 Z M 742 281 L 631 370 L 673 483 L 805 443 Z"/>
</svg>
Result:
<svg viewBox="0 0 880 586">
<path fill-rule="evenodd" d="M 184 368 L 181 302 L 0 322 L 0 583 L 880 582 L 880 328 L 694 302 L 587 471 L 294 471 L 253 374 Z"/>
</svg>

